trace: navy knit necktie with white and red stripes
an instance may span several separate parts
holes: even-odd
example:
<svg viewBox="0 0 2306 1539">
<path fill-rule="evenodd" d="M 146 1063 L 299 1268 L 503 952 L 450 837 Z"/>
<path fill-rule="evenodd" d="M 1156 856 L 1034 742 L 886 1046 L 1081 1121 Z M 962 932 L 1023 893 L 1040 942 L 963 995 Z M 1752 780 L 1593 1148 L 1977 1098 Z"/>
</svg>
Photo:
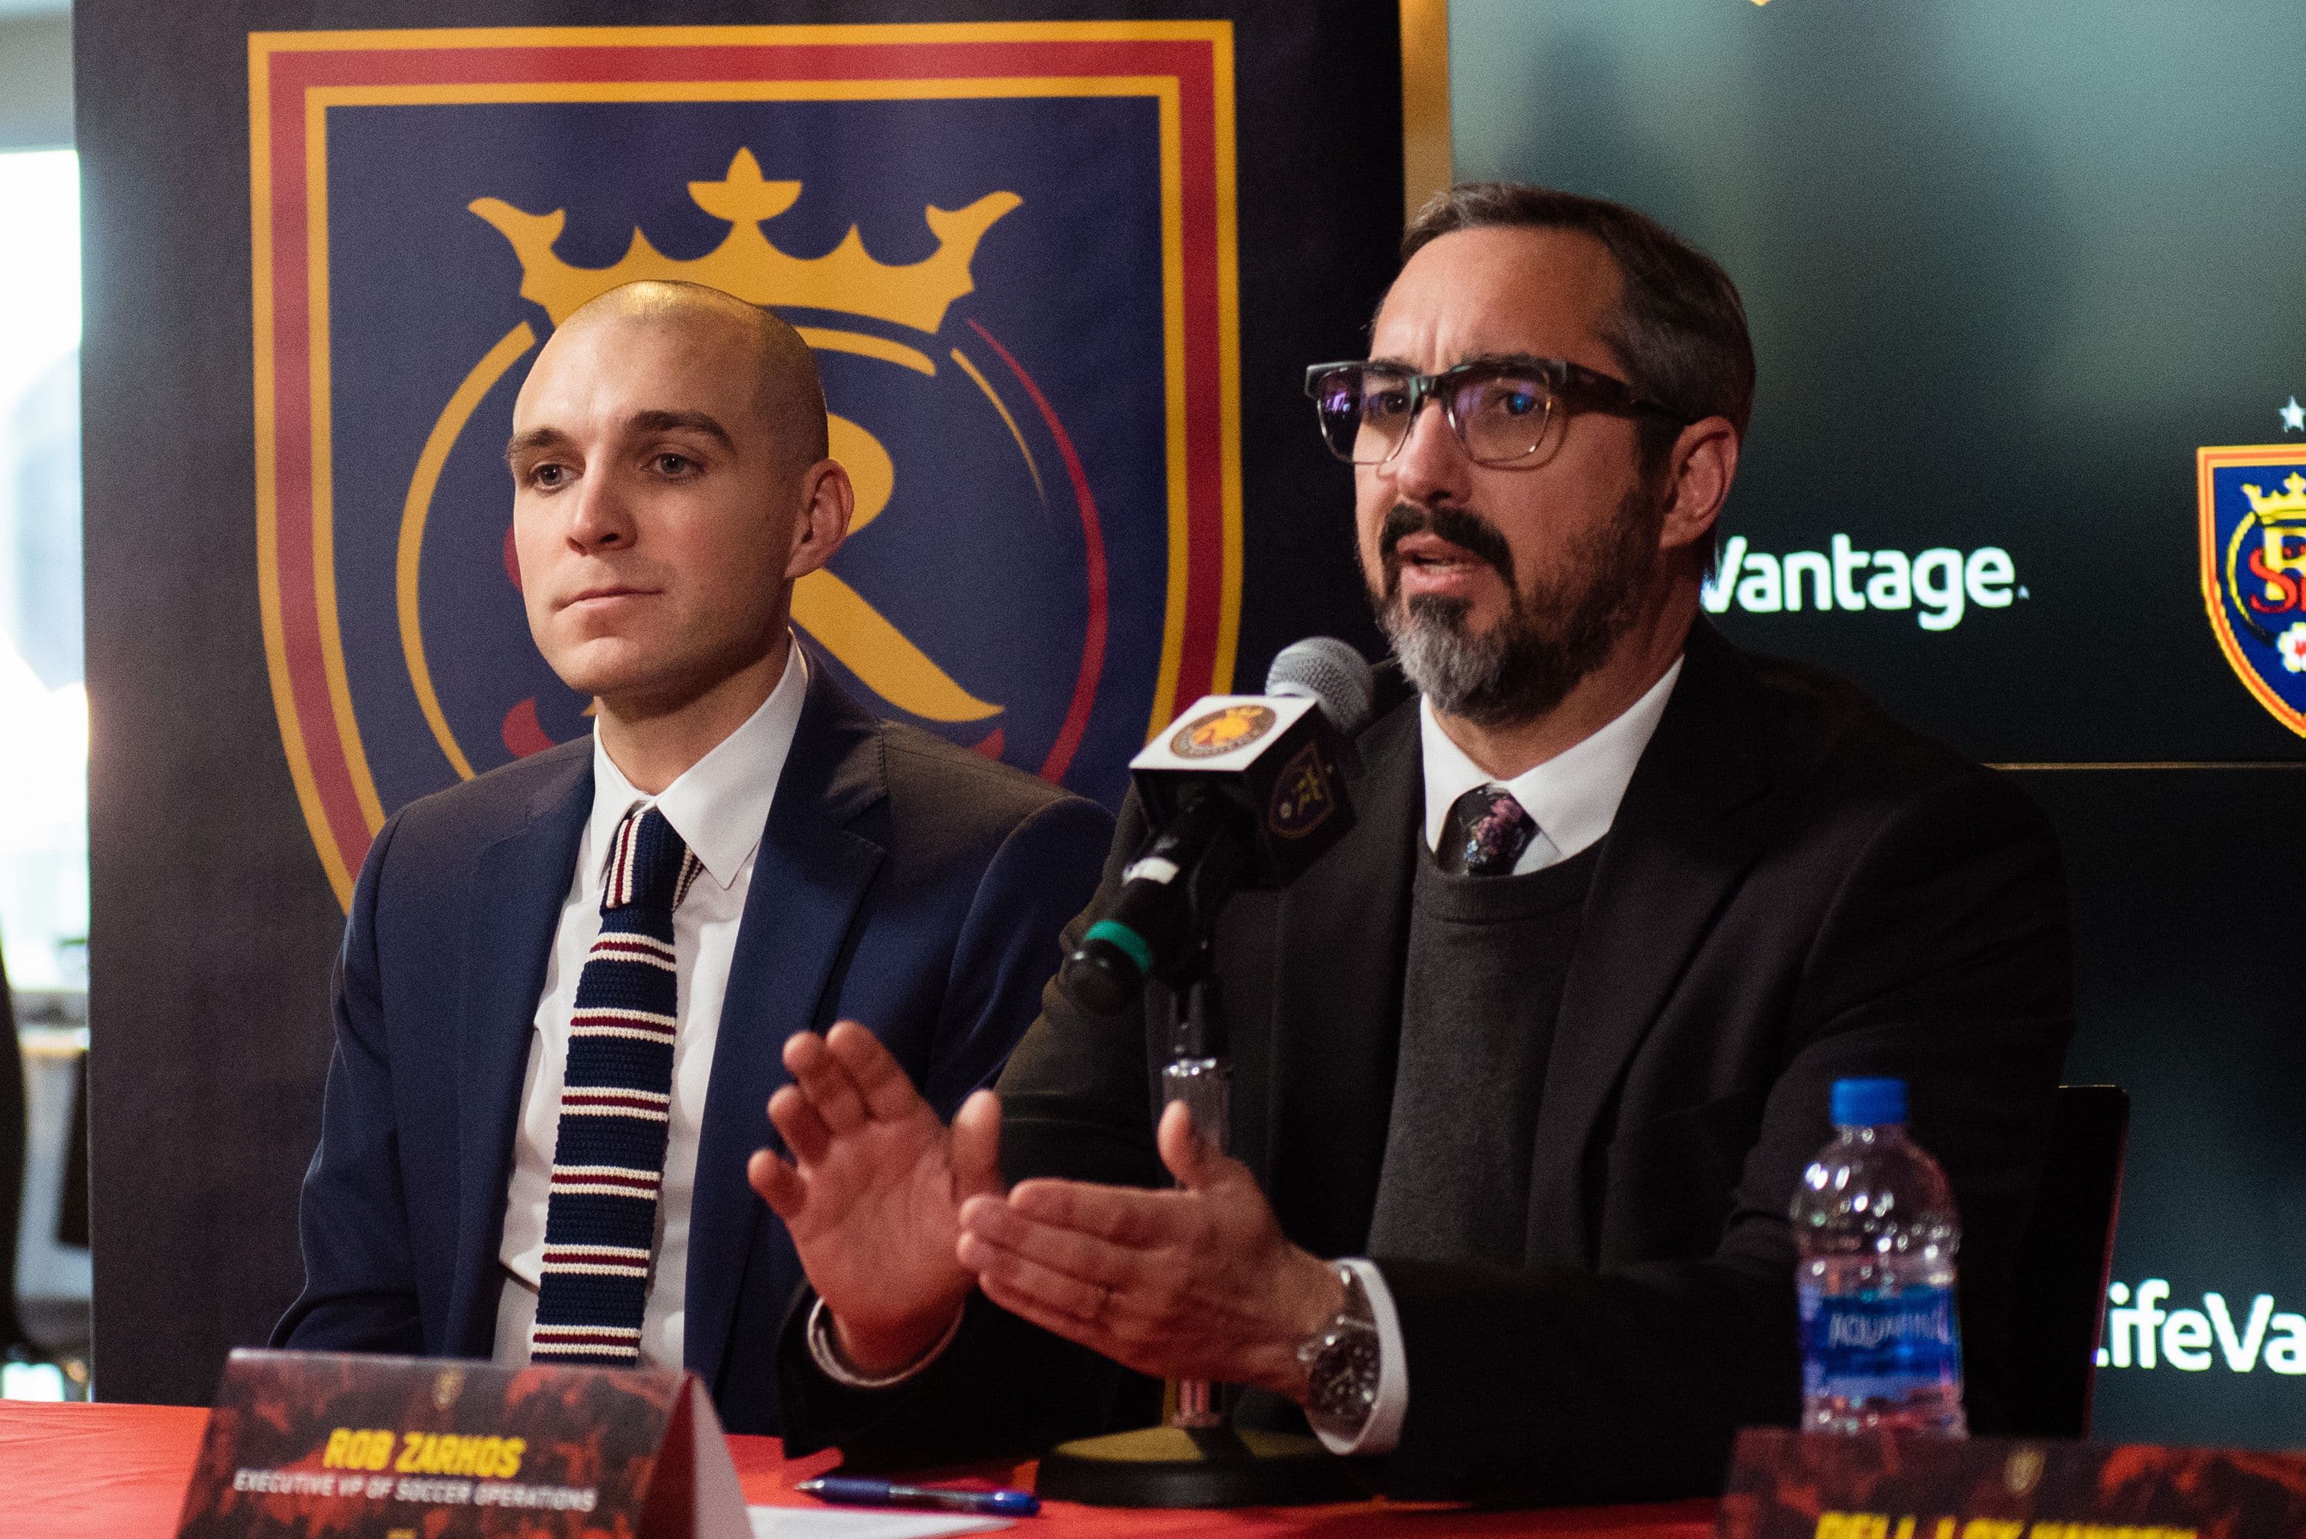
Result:
<svg viewBox="0 0 2306 1539">
<path fill-rule="evenodd" d="M 576 974 L 530 1361 L 641 1359 L 680 1013 L 673 909 L 699 870 L 655 808 L 616 826 L 600 934 Z"/>
</svg>

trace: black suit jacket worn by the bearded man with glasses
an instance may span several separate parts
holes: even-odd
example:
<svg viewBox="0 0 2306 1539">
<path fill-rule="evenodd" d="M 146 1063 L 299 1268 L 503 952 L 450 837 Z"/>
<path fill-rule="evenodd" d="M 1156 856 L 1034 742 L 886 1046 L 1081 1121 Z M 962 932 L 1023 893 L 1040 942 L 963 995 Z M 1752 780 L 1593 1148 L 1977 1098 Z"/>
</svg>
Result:
<svg viewBox="0 0 2306 1539">
<path fill-rule="evenodd" d="M 1416 706 L 1372 725 L 1361 759 L 1354 833 L 1284 893 L 1236 898 L 1218 937 L 1234 1149 L 1317 1255 L 1365 1253 L 1386 1149 Z M 1100 904 L 1144 835 L 1132 803 Z M 1141 1011 L 1091 1015 L 1047 990 L 1001 1078 L 1012 1179 L 1165 1181 L 1151 1112 L 1167 1008 L 1148 990 Z M 1700 621 L 1587 900 L 1524 1264 L 1377 1258 L 1409 1414 L 1374 1477 L 1425 1497 L 1718 1491 L 1739 1426 L 1799 1412 L 1787 1207 L 1842 1075 L 1905 1078 L 1914 1138 L 1953 1181 L 1969 1412 L 1992 1431 L 2068 1034 L 2066 895 L 2041 812 L 1847 683 L 1743 655 Z M 793 1329 L 784 1375 L 796 1449 L 883 1463 L 1151 1419 L 1141 1380 L 982 1299 L 902 1389 L 835 1389 Z"/>
</svg>

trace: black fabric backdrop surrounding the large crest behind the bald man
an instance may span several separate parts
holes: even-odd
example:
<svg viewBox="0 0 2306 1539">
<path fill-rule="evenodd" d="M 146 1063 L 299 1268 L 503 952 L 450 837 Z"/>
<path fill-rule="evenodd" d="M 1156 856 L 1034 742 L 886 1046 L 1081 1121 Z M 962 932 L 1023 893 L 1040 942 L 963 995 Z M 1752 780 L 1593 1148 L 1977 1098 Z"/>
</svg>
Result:
<svg viewBox="0 0 2306 1539">
<path fill-rule="evenodd" d="M 1245 581 L 1238 678 L 1372 644 L 1347 478 L 1298 395 L 1351 355 L 1400 235 L 1393 5 L 1035 5 L 1231 18 Z M 95 1373 L 201 1403 L 300 1281 L 295 1191 L 341 911 L 274 725 L 256 605 L 247 35 L 304 28 L 989 21 L 978 5 L 392 2 L 74 16 L 85 224 Z M 339 425 L 339 434 L 344 427 Z"/>
</svg>

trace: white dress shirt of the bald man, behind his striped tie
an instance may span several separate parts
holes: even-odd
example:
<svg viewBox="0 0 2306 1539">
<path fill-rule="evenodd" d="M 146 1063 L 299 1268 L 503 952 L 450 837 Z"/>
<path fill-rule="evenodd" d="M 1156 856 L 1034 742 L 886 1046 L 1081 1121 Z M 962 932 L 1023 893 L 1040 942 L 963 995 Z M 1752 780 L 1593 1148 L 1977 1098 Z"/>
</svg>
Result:
<svg viewBox="0 0 2306 1539">
<path fill-rule="evenodd" d="M 729 962 L 736 955 L 745 895 L 761 851 L 761 826 L 777 796 L 777 778 L 800 727 L 807 665 L 798 641 L 784 676 L 745 725 L 692 764 L 662 796 L 643 796 L 625 780 L 600 734 L 593 734 L 593 817 L 576 844 L 576 872 L 560 904 L 560 928 L 544 967 L 528 1075 L 521 1082 L 521 1126 L 512 1144 L 512 1181 L 505 1191 L 505 1239 L 498 1262 L 505 1292 L 496 1311 L 496 1361 L 528 1361 L 528 1338 L 537 1322 L 537 1278 L 544 1269 L 544 1207 L 551 1195 L 553 1142 L 560 1135 L 560 1082 L 570 1061 L 570 1015 L 576 1008 L 576 976 L 593 937 L 600 934 L 600 895 L 606 879 L 616 826 L 634 805 L 655 801 L 703 863 L 687 898 L 673 911 L 680 1006 L 673 1041 L 673 1108 L 664 1144 L 664 1188 L 657 1198 L 657 1260 L 641 1315 L 641 1361 L 680 1366 L 689 1283 L 689 1198 L 696 1191 L 696 1133 L 713 1080 L 713 1045 L 719 1041 Z"/>
</svg>

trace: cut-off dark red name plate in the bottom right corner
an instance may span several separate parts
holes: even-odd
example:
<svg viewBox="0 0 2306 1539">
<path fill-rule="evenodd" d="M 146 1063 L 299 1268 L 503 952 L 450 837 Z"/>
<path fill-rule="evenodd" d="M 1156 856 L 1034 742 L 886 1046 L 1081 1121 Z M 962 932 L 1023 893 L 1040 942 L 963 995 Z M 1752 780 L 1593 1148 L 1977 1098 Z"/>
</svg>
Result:
<svg viewBox="0 0 2306 1539">
<path fill-rule="evenodd" d="M 1723 1539 L 2306 1532 L 2306 1458 L 2025 1437 L 1739 1433 Z"/>
</svg>

